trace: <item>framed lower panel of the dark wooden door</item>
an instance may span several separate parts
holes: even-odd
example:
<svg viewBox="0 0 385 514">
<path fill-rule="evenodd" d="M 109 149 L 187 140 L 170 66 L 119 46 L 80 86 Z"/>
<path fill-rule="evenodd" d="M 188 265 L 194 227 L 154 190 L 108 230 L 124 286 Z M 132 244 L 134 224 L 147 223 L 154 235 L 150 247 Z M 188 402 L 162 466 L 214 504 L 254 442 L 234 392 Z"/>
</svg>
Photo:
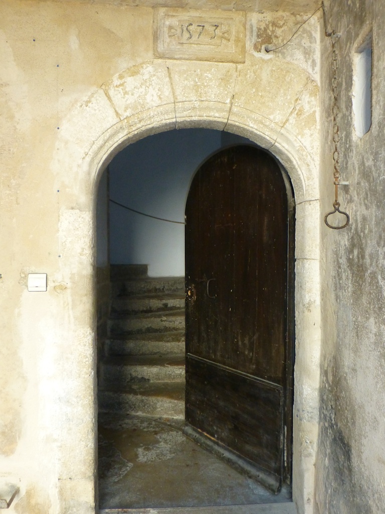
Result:
<svg viewBox="0 0 385 514">
<path fill-rule="evenodd" d="M 187 355 L 188 423 L 279 477 L 283 391 L 276 384 Z"/>
</svg>

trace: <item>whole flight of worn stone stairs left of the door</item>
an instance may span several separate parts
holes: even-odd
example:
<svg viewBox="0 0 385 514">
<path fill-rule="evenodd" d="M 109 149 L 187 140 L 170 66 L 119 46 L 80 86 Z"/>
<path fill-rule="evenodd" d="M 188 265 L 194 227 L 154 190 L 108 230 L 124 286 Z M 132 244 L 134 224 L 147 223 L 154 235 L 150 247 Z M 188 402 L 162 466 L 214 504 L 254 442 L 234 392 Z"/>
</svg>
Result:
<svg viewBox="0 0 385 514">
<path fill-rule="evenodd" d="M 99 362 L 99 411 L 184 417 L 184 277 L 111 266 L 108 338 Z"/>
</svg>

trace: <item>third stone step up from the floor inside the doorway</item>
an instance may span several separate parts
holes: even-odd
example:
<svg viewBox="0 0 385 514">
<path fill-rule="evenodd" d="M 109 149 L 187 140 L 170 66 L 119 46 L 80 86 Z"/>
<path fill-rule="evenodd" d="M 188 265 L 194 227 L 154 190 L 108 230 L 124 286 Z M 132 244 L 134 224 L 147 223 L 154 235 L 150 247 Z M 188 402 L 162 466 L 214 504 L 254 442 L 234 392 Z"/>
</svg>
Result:
<svg viewBox="0 0 385 514">
<path fill-rule="evenodd" d="M 125 338 L 107 339 L 105 355 L 170 355 L 183 354 L 185 351 L 185 332 L 154 332 L 131 334 Z"/>
</svg>

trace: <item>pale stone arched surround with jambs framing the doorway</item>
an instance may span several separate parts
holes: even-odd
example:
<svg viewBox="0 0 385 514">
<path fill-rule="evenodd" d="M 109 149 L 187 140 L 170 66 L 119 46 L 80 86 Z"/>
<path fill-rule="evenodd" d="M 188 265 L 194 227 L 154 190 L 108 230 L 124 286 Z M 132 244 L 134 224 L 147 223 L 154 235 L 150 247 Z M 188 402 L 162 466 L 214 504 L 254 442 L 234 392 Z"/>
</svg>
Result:
<svg viewBox="0 0 385 514">
<path fill-rule="evenodd" d="M 75 276 L 79 273 L 91 280 L 95 198 L 108 162 L 127 144 L 187 127 L 214 128 L 247 137 L 271 151 L 291 177 L 296 201 L 293 498 L 298 513 L 311 514 L 319 411 L 320 213 L 318 86 L 306 71 L 279 59 L 248 57 L 245 64 L 159 59 L 133 66 L 96 88 L 62 124 L 52 162 L 53 170 L 58 174 L 60 170 L 61 189 L 66 192 L 59 213 L 64 220 L 59 227 L 60 244 L 71 255 Z M 76 216 L 76 237 L 71 224 L 74 209 L 82 213 Z M 94 333 L 91 294 L 87 301 L 90 316 L 84 319 L 83 328 L 85 333 L 87 329 Z M 73 331 L 76 337 L 75 327 Z M 94 340 L 82 338 L 79 352 L 88 359 L 84 363 L 73 358 L 79 376 L 76 388 L 79 395 L 88 396 L 88 401 L 73 413 L 75 421 L 79 418 L 79 434 L 72 429 L 71 440 L 62 447 L 68 450 L 73 446 L 69 452 L 73 470 L 78 468 L 73 465 L 73 455 L 79 454 L 80 444 L 84 446 L 83 464 L 89 463 L 89 469 L 83 469 L 83 476 L 90 476 L 95 472 L 97 451 L 96 387 L 95 380 L 93 385 L 89 380 L 97 360 Z M 93 430 L 82 431 L 88 419 L 92 419 Z M 64 468 L 69 466 L 65 464 L 68 456 L 61 458 Z"/>
</svg>

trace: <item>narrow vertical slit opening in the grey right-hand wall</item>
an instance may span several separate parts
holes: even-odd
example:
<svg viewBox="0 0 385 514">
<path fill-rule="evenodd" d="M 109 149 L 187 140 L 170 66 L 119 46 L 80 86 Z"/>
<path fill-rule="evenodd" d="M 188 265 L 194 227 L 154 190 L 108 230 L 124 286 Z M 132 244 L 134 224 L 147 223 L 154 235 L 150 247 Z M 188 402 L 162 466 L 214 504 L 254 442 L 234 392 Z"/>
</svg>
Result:
<svg viewBox="0 0 385 514">
<path fill-rule="evenodd" d="M 372 124 L 372 34 L 354 54 L 352 104 L 354 128 L 362 137 Z"/>
</svg>

